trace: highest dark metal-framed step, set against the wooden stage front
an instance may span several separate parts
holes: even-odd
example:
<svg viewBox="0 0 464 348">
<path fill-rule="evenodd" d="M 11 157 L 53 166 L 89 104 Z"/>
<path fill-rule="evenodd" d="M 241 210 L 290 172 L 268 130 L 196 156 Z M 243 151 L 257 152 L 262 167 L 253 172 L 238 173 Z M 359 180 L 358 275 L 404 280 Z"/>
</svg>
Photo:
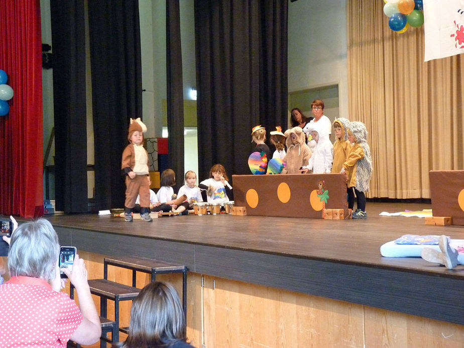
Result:
<svg viewBox="0 0 464 348">
<path fill-rule="evenodd" d="M 103 278 L 108 279 L 108 265 L 127 268 L 132 270 L 132 286 L 137 286 L 137 271 L 151 274 L 154 282 L 157 274 L 182 273 L 182 309 L 187 318 L 187 267 L 184 265 L 171 264 L 168 262 L 141 258 L 135 256 L 124 256 L 120 258 L 105 258 L 103 264 Z"/>
</svg>

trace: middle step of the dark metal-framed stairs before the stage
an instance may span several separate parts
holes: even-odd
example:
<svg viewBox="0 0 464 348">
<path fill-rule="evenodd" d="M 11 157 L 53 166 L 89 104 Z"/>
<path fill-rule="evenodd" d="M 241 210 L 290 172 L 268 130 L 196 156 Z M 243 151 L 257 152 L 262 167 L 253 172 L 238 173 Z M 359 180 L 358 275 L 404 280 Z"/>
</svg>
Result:
<svg viewBox="0 0 464 348">
<path fill-rule="evenodd" d="M 140 292 L 140 289 L 135 287 L 111 282 L 106 279 L 91 279 L 88 281 L 90 293 L 100 296 L 100 316 L 107 317 L 106 303 L 107 300 L 114 301 L 114 330 L 111 336 L 112 342 L 119 342 L 119 303 L 120 301 L 132 301 Z M 74 287 L 71 284 L 70 297 L 74 298 Z M 100 320 L 101 321 L 101 320 Z M 102 327 L 103 329 L 103 327 Z M 103 340 L 107 340 L 106 333 Z M 102 341 L 100 340 L 100 345 Z M 104 345 L 103 345 L 104 346 Z"/>
</svg>

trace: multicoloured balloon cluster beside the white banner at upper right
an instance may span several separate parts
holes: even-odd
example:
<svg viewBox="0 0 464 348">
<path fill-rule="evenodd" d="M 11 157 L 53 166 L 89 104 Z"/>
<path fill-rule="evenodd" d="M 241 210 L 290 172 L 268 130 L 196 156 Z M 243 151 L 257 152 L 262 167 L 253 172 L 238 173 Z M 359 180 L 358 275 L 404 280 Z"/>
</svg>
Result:
<svg viewBox="0 0 464 348">
<path fill-rule="evenodd" d="M 396 33 L 424 24 L 422 0 L 384 0 L 384 14 L 389 18 L 388 26 Z"/>
</svg>

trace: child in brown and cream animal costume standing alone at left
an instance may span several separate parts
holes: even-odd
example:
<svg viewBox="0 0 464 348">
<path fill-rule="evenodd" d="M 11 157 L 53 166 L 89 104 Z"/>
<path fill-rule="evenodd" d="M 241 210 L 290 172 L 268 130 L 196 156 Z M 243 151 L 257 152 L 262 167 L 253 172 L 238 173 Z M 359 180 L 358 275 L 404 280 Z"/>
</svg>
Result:
<svg viewBox="0 0 464 348">
<path fill-rule="evenodd" d="M 144 148 L 144 136 L 147 127 L 138 118 L 131 119 L 127 139 L 131 144 L 123 151 L 121 171 L 126 176 L 126 201 L 124 218 L 132 221 L 137 195 L 140 195 L 140 217 L 150 222 L 150 178 L 148 173 L 148 152 Z"/>
</svg>

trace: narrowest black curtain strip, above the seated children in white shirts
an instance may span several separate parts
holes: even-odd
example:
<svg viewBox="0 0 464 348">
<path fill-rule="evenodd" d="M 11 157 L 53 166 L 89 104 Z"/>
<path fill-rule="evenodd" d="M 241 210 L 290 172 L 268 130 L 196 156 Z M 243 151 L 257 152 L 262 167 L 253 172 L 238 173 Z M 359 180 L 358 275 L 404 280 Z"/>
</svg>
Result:
<svg viewBox="0 0 464 348">
<path fill-rule="evenodd" d="M 169 166 L 176 173 L 177 192 L 184 183 L 184 95 L 179 0 L 166 2 L 166 74 Z"/>
</svg>

